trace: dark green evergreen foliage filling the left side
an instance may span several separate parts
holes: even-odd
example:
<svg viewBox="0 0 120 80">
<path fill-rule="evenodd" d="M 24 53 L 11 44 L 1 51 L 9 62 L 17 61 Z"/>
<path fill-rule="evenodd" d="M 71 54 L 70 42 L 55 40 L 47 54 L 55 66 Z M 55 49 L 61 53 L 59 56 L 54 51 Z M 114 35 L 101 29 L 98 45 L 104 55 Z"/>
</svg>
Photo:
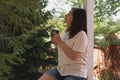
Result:
<svg viewBox="0 0 120 80">
<path fill-rule="evenodd" d="M 0 0 L 0 80 L 37 80 L 39 67 L 56 65 L 46 6 L 47 0 Z"/>
</svg>

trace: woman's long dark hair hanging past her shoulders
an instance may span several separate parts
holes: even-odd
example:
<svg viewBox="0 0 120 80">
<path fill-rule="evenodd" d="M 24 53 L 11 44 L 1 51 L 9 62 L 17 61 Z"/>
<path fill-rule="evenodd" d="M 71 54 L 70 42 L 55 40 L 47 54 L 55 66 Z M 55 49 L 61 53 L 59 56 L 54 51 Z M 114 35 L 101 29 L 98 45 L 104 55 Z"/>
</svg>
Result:
<svg viewBox="0 0 120 80">
<path fill-rule="evenodd" d="M 74 37 L 79 31 L 83 30 L 87 34 L 86 11 L 81 8 L 72 8 L 73 20 L 69 28 L 69 38 Z"/>
</svg>

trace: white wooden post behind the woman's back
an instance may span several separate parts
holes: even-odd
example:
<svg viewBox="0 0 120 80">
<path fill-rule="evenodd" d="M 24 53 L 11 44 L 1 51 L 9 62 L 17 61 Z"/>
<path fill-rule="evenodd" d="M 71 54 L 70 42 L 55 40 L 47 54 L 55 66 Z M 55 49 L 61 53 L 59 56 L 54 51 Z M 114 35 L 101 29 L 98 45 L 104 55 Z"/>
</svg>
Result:
<svg viewBox="0 0 120 80">
<path fill-rule="evenodd" d="M 84 9 L 87 12 L 87 33 L 88 33 L 88 80 L 93 80 L 93 20 L 94 20 L 94 0 L 83 0 Z"/>
</svg>

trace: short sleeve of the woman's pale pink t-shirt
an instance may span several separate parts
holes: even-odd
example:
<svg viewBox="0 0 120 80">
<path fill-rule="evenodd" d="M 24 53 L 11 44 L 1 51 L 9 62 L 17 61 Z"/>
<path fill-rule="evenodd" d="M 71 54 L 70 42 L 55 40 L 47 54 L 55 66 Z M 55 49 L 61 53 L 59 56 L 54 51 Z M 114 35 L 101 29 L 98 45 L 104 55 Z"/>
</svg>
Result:
<svg viewBox="0 0 120 80">
<path fill-rule="evenodd" d="M 73 50 L 78 52 L 85 52 L 87 47 L 87 35 L 84 31 L 81 31 L 75 36 Z"/>
</svg>

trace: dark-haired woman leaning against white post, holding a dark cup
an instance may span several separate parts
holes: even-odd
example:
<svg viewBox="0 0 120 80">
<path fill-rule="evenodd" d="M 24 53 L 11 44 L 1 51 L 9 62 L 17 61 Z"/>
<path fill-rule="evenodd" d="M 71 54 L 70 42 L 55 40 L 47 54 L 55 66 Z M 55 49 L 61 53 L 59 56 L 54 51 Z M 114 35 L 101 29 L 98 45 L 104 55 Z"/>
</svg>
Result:
<svg viewBox="0 0 120 80">
<path fill-rule="evenodd" d="M 65 16 L 67 29 L 62 38 L 54 33 L 58 66 L 38 80 L 87 80 L 87 27 L 84 9 L 72 8 Z"/>
</svg>

